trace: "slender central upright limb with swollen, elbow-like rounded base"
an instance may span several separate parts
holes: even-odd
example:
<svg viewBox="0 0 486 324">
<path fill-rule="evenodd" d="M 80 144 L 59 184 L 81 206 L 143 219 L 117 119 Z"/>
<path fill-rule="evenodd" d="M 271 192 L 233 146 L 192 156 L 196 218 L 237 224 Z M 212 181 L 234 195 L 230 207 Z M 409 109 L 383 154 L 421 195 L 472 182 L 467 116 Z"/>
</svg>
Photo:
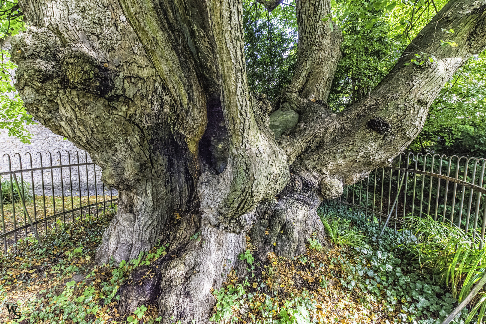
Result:
<svg viewBox="0 0 486 324">
<path fill-rule="evenodd" d="M 208 7 L 229 152 L 226 169 L 203 174 L 198 189 L 208 221 L 241 232 L 251 225 L 257 204 L 285 186 L 289 170 L 248 89 L 242 3 L 210 0 Z"/>
</svg>

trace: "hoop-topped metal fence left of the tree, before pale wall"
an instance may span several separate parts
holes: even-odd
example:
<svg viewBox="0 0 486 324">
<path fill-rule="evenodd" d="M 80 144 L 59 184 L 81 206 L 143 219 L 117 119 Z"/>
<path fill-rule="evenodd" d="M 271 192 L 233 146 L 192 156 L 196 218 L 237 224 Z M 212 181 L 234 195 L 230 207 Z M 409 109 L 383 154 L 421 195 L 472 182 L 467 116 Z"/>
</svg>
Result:
<svg viewBox="0 0 486 324">
<path fill-rule="evenodd" d="M 26 153 L 23 160 L 15 153 L 3 159 L 0 239 L 5 252 L 31 234 L 47 237 L 69 223 L 98 218 L 118 201 L 117 191 L 104 186 L 100 167 L 86 152 Z"/>
</svg>

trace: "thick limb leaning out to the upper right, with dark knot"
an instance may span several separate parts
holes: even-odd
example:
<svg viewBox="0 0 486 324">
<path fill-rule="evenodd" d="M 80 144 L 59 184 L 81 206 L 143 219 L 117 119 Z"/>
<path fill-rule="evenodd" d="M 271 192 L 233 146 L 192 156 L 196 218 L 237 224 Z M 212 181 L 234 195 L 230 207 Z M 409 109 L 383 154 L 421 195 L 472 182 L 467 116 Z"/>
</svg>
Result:
<svg viewBox="0 0 486 324">
<path fill-rule="evenodd" d="M 484 0 L 450 1 L 368 97 L 338 114 L 301 119 L 293 136 L 282 139 L 289 161 L 347 184 L 386 165 L 418 135 L 445 82 L 471 55 L 485 50 L 485 7 Z M 445 32 L 450 29 L 455 33 Z M 441 40 L 458 46 L 441 46 Z"/>
</svg>

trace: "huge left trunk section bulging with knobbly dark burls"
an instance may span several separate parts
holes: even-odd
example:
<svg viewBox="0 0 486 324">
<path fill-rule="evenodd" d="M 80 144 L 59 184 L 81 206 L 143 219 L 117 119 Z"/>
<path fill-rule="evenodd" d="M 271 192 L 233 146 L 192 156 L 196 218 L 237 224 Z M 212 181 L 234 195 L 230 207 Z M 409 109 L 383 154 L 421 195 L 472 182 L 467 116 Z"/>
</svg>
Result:
<svg viewBox="0 0 486 324">
<path fill-rule="evenodd" d="M 191 141 L 204 132 L 206 94 L 185 74 L 163 80 L 117 1 L 19 4 L 34 26 L 12 40 L 19 94 L 35 119 L 86 150 L 104 183 L 119 189 L 99 262 L 136 257 L 194 195 Z M 193 92 L 178 97 L 181 88 Z"/>
</svg>

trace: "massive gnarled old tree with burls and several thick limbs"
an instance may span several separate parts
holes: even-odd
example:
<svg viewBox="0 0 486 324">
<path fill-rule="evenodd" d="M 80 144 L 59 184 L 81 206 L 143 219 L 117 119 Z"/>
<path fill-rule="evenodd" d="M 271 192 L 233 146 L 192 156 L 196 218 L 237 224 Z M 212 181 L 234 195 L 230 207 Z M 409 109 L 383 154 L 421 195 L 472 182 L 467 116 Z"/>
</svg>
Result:
<svg viewBox="0 0 486 324">
<path fill-rule="evenodd" d="M 28 111 L 90 153 L 119 190 L 97 261 L 170 242 L 155 279 L 139 269 L 132 279 L 144 284 L 122 287 L 119 305 L 158 297 L 165 323 L 207 320 L 210 289 L 238 265 L 248 231 L 261 257 L 303 253 L 323 235 L 322 199 L 401 152 L 444 83 L 486 44 L 486 1 L 451 0 L 380 85 L 336 114 L 326 100 L 341 34 L 323 21 L 329 0 L 296 1 L 297 68 L 273 108 L 248 89 L 241 0 L 19 4 L 31 27 L 11 52 Z M 441 47 L 446 38 L 458 46 Z M 415 53 L 434 62 L 405 65 Z"/>
</svg>

